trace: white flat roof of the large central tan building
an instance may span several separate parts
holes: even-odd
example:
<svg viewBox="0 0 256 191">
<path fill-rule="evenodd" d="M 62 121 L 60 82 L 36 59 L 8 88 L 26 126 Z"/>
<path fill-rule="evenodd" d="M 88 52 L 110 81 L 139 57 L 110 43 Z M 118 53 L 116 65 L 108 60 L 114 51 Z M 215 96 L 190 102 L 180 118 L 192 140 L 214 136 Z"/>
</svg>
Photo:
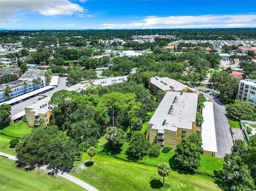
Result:
<svg viewBox="0 0 256 191">
<path fill-rule="evenodd" d="M 177 98 L 174 101 L 174 98 Z M 174 103 L 173 103 L 174 101 Z M 192 129 L 192 122 L 196 122 L 196 108 L 198 93 L 166 92 L 158 108 L 154 112 L 148 124 L 153 124 L 153 129 L 160 131 L 177 131 L 177 128 Z M 170 107 L 173 106 L 168 114 Z M 163 122 L 166 124 L 163 126 Z"/>
</svg>

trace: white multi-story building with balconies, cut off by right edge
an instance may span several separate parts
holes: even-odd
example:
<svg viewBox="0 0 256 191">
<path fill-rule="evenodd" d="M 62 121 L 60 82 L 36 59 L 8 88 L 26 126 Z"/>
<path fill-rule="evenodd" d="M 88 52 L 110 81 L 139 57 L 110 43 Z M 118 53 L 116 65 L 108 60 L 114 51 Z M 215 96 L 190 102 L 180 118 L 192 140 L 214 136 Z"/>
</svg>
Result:
<svg viewBox="0 0 256 191">
<path fill-rule="evenodd" d="M 240 80 L 237 98 L 249 102 L 256 110 L 256 80 Z"/>
</svg>

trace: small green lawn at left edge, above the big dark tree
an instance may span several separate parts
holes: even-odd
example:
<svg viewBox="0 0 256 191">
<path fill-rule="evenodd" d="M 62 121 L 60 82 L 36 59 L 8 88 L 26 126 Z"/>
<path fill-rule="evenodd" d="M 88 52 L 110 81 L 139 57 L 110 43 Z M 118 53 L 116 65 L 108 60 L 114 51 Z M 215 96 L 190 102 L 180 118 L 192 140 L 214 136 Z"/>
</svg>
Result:
<svg viewBox="0 0 256 191">
<path fill-rule="evenodd" d="M 4 123 L 1 122 L 0 133 L 6 136 L 14 138 L 22 138 L 25 134 L 28 134 L 32 131 L 32 128 L 28 128 L 28 124 L 20 121 L 17 123 Z"/>
</svg>

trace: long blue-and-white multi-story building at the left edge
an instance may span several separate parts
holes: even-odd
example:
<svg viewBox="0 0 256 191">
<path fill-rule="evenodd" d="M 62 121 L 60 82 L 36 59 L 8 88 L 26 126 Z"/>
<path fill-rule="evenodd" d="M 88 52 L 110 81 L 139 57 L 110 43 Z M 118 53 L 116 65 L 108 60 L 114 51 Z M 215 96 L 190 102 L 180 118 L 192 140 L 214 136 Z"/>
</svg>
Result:
<svg viewBox="0 0 256 191">
<path fill-rule="evenodd" d="M 0 102 L 5 101 L 3 98 L 3 95 L 4 95 L 5 88 L 8 86 L 11 89 L 11 92 L 9 93 L 10 98 L 8 100 L 24 95 L 36 89 L 45 87 L 46 86 L 46 81 L 45 81 L 46 77 L 44 76 L 45 72 L 46 72 L 45 70 L 27 71 L 26 73 L 24 73 L 24 75 L 22 75 L 22 77 L 20 77 L 20 79 L 10 83 L 0 85 Z M 41 83 L 40 84 L 33 83 L 33 79 L 37 79 L 38 77 L 41 78 Z M 24 86 L 24 82 L 26 82 L 26 86 Z"/>
</svg>

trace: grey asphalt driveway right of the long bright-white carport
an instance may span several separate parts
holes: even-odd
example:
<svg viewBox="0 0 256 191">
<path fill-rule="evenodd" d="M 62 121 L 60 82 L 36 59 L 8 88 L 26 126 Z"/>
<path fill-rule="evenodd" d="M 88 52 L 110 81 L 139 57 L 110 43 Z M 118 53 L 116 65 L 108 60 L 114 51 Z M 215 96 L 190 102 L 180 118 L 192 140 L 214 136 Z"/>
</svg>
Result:
<svg viewBox="0 0 256 191">
<path fill-rule="evenodd" d="M 195 89 L 207 88 L 195 87 Z M 243 132 L 240 129 L 230 128 L 224 104 L 222 104 L 218 99 L 209 95 L 209 93 L 200 93 L 204 94 L 204 96 L 207 98 L 210 98 L 211 102 L 213 102 L 215 133 L 218 150 L 216 157 L 224 158 L 225 154 L 231 153 L 234 140 L 244 140 Z"/>
</svg>

